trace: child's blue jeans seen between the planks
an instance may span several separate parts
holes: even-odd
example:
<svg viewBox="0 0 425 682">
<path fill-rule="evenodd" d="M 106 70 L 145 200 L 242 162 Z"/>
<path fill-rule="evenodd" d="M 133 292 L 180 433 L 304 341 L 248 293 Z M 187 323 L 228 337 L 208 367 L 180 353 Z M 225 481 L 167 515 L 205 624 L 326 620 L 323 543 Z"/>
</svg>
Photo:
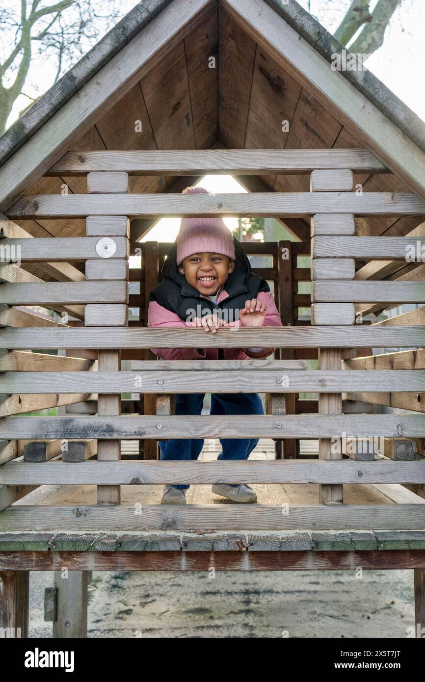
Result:
<svg viewBox="0 0 425 682">
<path fill-rule="evenodd" d="M 177 394 L 176 415 L 201 415 L 205 394 Z M 213 393 L 211 394 L 210 415 L 263 415 L 263 402 L 258 393 Z M 236 426 L 236 422 L 235 422 Z M 219 460 L 247 460 L 258 438 L 220 438 L 222 451 Z M 170 439 L 158 441 L 162 460 L 197 460 L 203 448 L 204 439 Z M 186 489 L 189 486 L 175 486 Z"/>
</svg>

